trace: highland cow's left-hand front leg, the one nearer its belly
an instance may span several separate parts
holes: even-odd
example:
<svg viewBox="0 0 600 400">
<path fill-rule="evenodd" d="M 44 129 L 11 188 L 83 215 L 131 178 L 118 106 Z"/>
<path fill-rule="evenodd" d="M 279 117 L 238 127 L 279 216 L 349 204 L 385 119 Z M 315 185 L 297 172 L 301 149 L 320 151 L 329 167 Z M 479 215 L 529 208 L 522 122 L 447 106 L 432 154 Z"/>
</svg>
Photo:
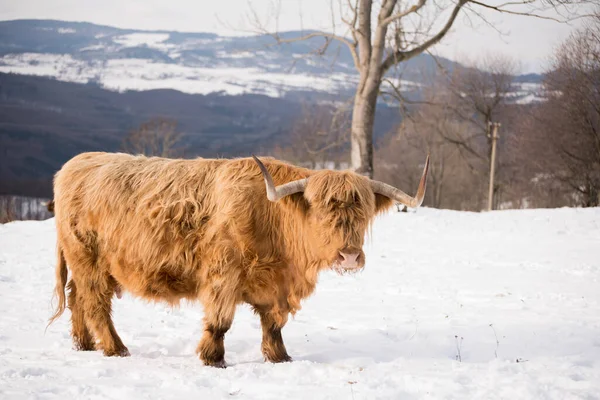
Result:
<svg viewBox="0 0 600 400">
<path fill-rule="evenodd" d="M 204 334 L 198 344 L 198 353 L 204 365 L 225 368 L 225 333 L 231 327 L 235 304 L 205 307 Z"/>
</svg>

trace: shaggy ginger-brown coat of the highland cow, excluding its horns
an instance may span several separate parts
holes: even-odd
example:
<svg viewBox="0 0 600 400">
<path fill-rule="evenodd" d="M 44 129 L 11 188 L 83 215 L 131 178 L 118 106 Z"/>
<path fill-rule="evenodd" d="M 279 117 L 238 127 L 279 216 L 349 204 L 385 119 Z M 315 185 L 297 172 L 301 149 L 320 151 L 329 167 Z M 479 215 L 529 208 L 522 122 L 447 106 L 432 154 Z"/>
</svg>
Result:
<svg viewBox="0 0 600 400">
<path fill-rule="evenodd" d="M 68 307 L 75 347 L 129 354 L 111 319 L 115 293 L 204 305 L 197 352 L 224 366 L 223 337 L 236 306 L 252 305 L 268 361 L 289 361 L 281 329 L 300 310 L 319 271 L 340 251 L 359 253 L 373 217 L 392 205 L 366 177 L 312 171 L 274 159 L 276 184 L 309 178 L 304 193 L 270 202 L 250 158 L 172 160 L 85 153 L 57 173 L 56 295 L 51 321 Z"/>
</svg>

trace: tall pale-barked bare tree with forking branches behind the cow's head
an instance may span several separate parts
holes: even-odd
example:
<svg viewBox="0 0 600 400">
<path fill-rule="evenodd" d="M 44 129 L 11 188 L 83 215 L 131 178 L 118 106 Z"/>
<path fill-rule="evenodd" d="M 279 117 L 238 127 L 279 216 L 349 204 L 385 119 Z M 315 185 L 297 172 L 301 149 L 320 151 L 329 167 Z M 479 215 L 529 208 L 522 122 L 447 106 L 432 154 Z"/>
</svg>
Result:
<svg viewBox="0 0 600 400">
<path fill-rule="evenodd" d="M 515 0 L 501 4 L 491 0 L 337 1 L 338 13 L 334 13 L 336 7 L 333 0 L 330 4 L 333 32 L 311 32 L 285 39 L 278 32 L 272 35 L 278 43 L 323 37 L 325 42 L 317 51 L 320 54 L 332 41 L 347 46 L 359 73 L 352 113 L 351 162 L 355 171 L 372 177 L 375 109 L 384 78 L 395 66 L 437 44 L 448 33 L 461 11 L 478 18 L 483 18 L 482 10 L 549 18 L 544 16 L 544 10 L 588 3 L 589 0 Z M 346 28 L 341 34 L 335 32 L 338 18 Z M 440 20 L 443 21 L 441 24 Z M 256 13 L 252 22 L 260 31 L 269 32 L 265 24 L 260 23 Z M 350 38 L 346 37 L 347 34 Z"/>
</svg>

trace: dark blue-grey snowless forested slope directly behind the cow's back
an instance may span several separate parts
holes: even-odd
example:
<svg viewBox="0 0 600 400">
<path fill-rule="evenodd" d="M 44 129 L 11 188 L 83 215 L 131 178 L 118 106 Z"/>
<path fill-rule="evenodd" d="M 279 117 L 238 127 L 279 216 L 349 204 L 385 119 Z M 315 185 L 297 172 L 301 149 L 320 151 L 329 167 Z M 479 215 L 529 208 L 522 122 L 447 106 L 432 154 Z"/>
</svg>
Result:
<svg viewBox="0 0 600 400">
<path fill-rule="evenodd" d="M 109 91 L 95 84 L 0 73 L 0 194 L 49 195 L 50 179 L 70 157 L 118 150 L 141 122 L 175 119 L 185 156 L 246 156 L 285 145 L 301 104 L 264 95 Z M 399 122 L 379 107 L 376 136 Z"/>
</svg>

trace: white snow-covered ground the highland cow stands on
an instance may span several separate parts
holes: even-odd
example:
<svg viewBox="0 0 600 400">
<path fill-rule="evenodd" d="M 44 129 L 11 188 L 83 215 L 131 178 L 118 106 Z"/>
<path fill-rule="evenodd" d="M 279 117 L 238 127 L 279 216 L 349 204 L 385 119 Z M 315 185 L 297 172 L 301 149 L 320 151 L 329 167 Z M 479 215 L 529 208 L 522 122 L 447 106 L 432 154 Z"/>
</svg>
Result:
<svg viewBox="0 0 600 400">
<path fill-rule="evenodd" d="M 194 354 L 199 305 L 116 300 L 130 358 L 71 350 L 68 312 L 44 333 L 54 238 L 0 225 L 2 399 L 600 397 L 600 209 L 383 216 L 366 269 L 324 274 L 284 329 L 294 362 L 262 361 L 240 307 L 225 370 Z"/>
</svg>

